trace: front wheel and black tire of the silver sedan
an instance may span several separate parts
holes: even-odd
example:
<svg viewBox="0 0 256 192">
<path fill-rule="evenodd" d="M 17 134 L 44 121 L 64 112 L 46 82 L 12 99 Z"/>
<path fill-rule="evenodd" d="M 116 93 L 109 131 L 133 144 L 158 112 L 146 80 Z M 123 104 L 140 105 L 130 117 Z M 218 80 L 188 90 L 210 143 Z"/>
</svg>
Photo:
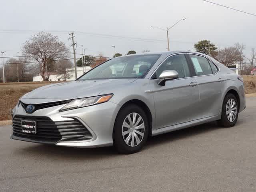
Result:
<svg viewBox="0 0 256 192">
<path fill-rule="evenodd" d="M 145 145 L 148 131 L 148 118 L 144 110 L 135 104 L 124 106 L 118 112 L 114 125 L 114 147 L 122 154 L 136 153 Z"/>
</svg>

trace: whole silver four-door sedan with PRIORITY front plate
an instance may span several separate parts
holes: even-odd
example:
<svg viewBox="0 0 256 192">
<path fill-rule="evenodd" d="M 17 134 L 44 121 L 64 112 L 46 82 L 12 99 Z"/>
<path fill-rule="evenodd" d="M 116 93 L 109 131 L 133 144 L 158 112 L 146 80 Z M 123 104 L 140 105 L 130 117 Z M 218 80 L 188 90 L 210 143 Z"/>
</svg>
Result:
<svg viewBox="0 0 256 192">
<path fill-rule="evenodd" d="M 196 52 L 113 58 L 72 82 L 22 96 L 12 139 L 71 147 L 142 149 L 149 136 L 217 121 L 236 124 L 245 109 L 242 78 Z"/>
</svg>

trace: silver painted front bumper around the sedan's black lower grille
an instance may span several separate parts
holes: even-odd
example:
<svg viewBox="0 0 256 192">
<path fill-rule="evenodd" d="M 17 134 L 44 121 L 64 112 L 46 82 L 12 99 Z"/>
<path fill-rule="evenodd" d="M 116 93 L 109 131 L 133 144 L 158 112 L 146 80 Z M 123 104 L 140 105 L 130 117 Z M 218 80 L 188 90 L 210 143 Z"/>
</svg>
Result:
<svg viewBox="0 0 256 192">
<path fill-rule="evenodd" d="M 58 140 L 55 142 L 49 142 L 47 140 L 37 140 L 30 135 L 30 138 L 12 134 L 11 139 L 22 140 L 36 143 L 55 144 L 58 146 L 70 146 L 70 147 L 82 147 L 82 148 L 94 148 L 102 146 L 113 145 L 113 127 L 116 115 L 120 109 L 120 106 L 113 102 L 106 102 L 98 105 L 87 106 L 84 108 L 78 108 L 68 111 L 59 112 L 60 108 L 64 105 L 53 106 L 36 110 L 32 114 L 27 114 L 24 108 L 19 105 L 13 110 L 13 119 L 15 116 L 26 116 L 26 118 L 36 118 L 37 116 L 45 116 L 50 118 L 53 122 L 60 122 L 66 120 L 76 119 L 81 122 L 84 127 L 92 135 L 89 139 L 84 140 Z"/>
</svg>

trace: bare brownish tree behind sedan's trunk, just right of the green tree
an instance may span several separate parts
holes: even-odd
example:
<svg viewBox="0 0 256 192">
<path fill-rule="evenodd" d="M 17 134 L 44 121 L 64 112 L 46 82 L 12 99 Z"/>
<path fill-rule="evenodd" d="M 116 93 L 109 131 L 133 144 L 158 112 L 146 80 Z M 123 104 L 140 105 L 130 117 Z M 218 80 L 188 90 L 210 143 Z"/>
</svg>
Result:
<svg viewBox="0 0 256 192">
<path fill-rule="evenodd" d="M 218 51 L 215 57 L 220 63 L 228 66 L 240 60 L 240 53 L 236 47 L 228 47 Z"/>
</svg>

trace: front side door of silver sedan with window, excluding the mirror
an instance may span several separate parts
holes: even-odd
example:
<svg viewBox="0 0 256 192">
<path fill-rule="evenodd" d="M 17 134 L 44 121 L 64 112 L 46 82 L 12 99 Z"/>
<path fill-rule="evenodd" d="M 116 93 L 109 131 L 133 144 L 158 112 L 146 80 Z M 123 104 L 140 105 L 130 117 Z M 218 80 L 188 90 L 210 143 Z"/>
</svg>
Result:
<svg viewBox="0 0 256 192">
<path fill-rule="evenodd" d="M 166 81 L 165 86 L 160 86 L 158 79 L 164 70 L 176 70 L 179 76 Z M 166 58 L 151 76 L 157 129 L 198 118 L 195 111 L 199 105 L 199 88 L 196 78 L 191 74 L 188 58 L 185 54 L 176 54 Z"/>
</svg>

